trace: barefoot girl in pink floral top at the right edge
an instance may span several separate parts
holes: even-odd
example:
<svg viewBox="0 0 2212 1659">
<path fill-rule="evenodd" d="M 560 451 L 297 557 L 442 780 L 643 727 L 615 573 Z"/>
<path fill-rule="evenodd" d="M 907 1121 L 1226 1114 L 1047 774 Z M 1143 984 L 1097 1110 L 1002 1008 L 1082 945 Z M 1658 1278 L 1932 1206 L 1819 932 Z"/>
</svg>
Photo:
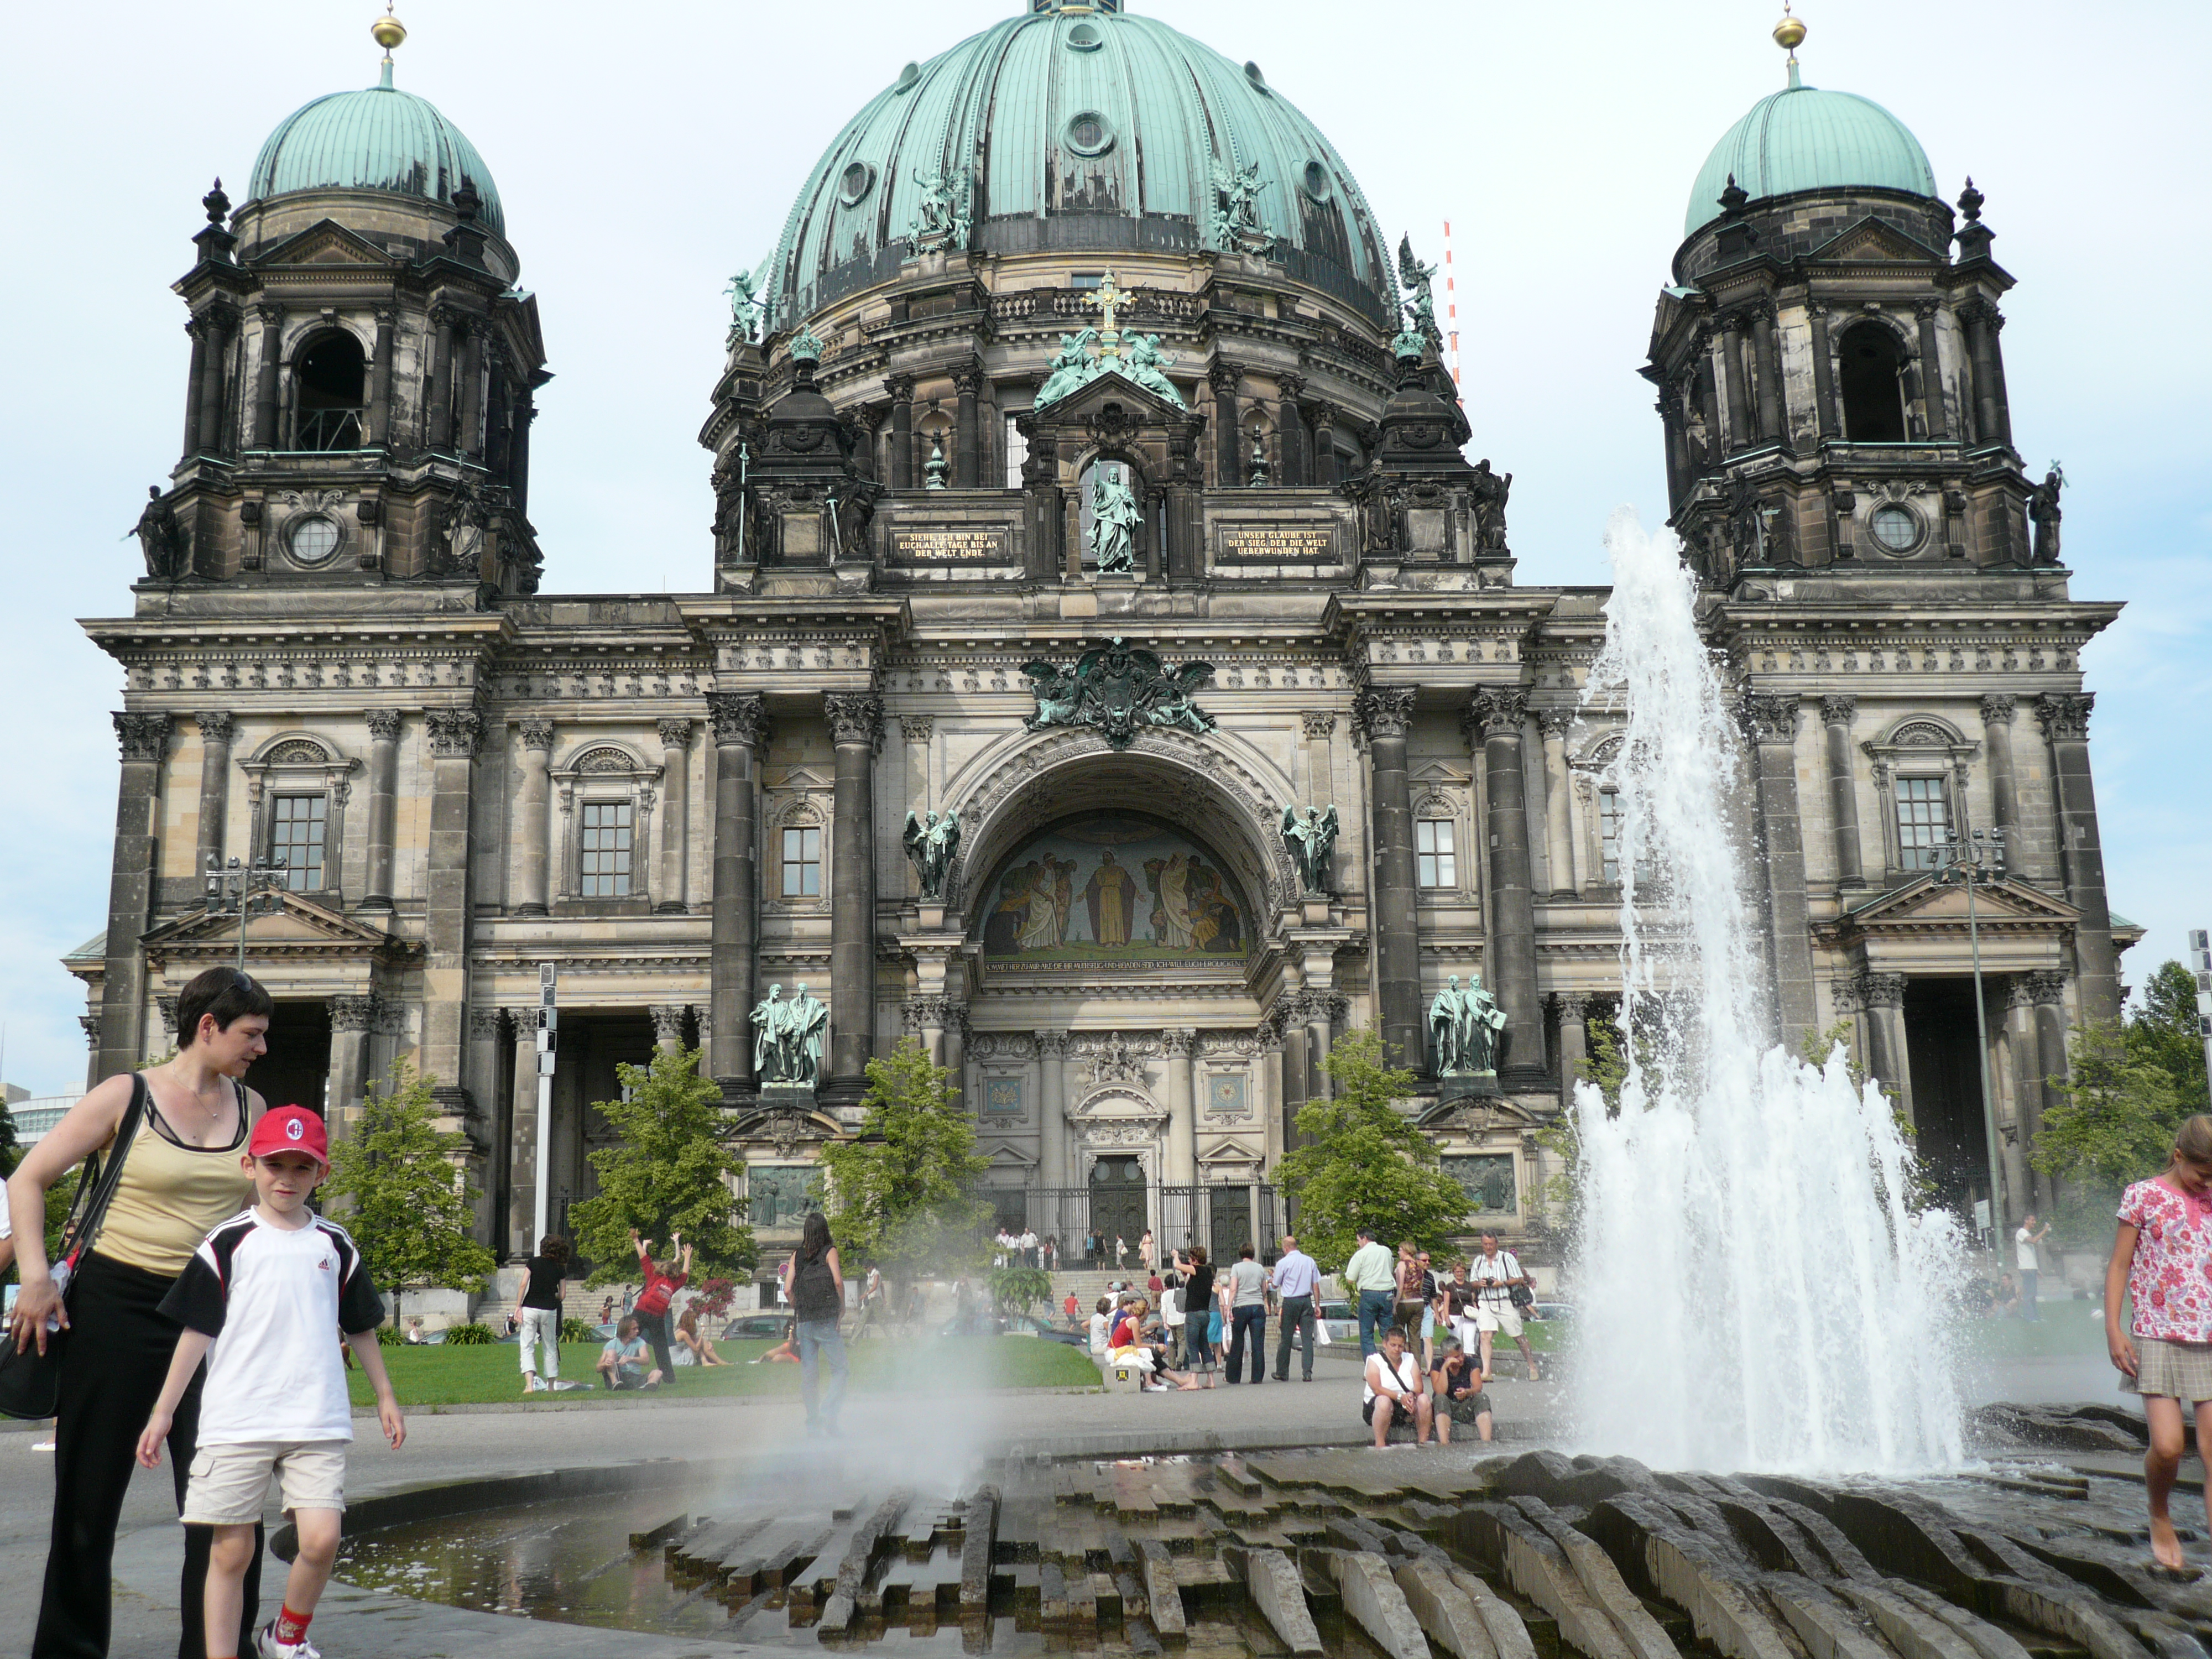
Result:
<svg viewBox="0 0 2212 1659">
<path fill-rule="evenodd" d="M 2135 1303 L 2132 1340 L 2119 1327 L 2124 1292 Z M 2119 1237 L 2104 1270 L 2104 1343 L 2128 1378 L 2121 1387 L 2143 1396 L 2150 1553 L 2179 1573 L 2181 1540 L 2166 1500 L 2181 1469 L 2183 1402 L 2197 1413 L 2197 1444 L 2212 1447 L 2212 1117 L 2188 1119 L 2166 1172 L 2119 1199 Z M 2205 1526 L 2212 1531 L 2212 1484 Z"/>
</svg>

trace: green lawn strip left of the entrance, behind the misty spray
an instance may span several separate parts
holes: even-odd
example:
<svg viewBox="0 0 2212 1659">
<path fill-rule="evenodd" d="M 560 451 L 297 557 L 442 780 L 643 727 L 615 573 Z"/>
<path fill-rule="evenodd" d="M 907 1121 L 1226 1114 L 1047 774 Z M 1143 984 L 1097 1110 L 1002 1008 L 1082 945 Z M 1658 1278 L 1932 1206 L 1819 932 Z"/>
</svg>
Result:
<svg viewBox="0 0 2212 1659">
<path fill-rule="evenodd" d="M 400 1396 L 400 1407 L 429 1405 L 518 1405 L 611 1400 L 597 1387 L 595 1365 L 599 1343 L 562 1343 L 560 1374 L 577 1383 L 591 1383 L 593 1391 L 568 1394 L 522 1394 L 520 1356 L 513 1343 L 489 1343 L 480 1347 L 387 1347 L 385 1365 L 392 1369 L 392 1387 Z M 796 1365 L 748 1365 L 745 1360 L 765 1354 L 772 1343 L 717 1343 L 714 1349 L 732 1365 L 708 1369 L 681 1367 L 664 1391 L 679 1396 L 792 1396 L 799 1394 Z M 869 1338 L 845 1343 L 852 1358 L 852 1387 L 856 1394 L 872 1389 L 898 1389 L 938 1394 L 956 1387 L 971 1389 L 1044 1389 L 1044 1387 L 1097 1387 L 1099 1371 L 1082 1349 L 1064 1343 L 1044 1343 L 1033 1336 L 958 1336 L 931 1343 L 900 1343 Z M 347 1374 L 354 1405 L 374 1405 L 369 1380 L 356 1369 Z"/>
</svg>

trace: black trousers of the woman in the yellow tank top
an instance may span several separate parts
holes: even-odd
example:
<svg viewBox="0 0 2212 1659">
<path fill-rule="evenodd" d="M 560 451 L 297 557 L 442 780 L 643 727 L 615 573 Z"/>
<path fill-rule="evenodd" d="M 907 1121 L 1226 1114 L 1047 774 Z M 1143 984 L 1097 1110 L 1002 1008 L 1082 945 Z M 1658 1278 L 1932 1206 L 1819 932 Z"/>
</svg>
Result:
<svg viewBox="0 0 2212 1659">
<path fill-rule="evenodd" d="M 111 1564 L 115 1522 L 124 1513 L 131 1471 L 137 1469 L 137 1438 L 153 1402 L 161 1398 L 181 1325 L 161 1318 L 161 1296 L 173 1279 L 108 1261 L 97 1252 L 77 1270 L 69 1294 L 69 1338 L 62 1349 L 62 1413 L 53 1429 L 53 1537 L 46 1546 L 46 1590 L 38 1604 L 38 1635 L 31 1659 L 106 1659 Z M 206 1369 L 177 1402 L 168 1431 L 168 1473 L 184 1486 L 199 1451 L 199 1391 Z M 208 1588 L 212 1526 L 184 1528 L 184 1630 L 177 1659 L 204 1659 L 206 1621 L 201 1599 Z M 261 1610 L 261 1528 L 246 1568 L 246 1610 L 239 1646 L 252 1650 Z"/>
</svg>

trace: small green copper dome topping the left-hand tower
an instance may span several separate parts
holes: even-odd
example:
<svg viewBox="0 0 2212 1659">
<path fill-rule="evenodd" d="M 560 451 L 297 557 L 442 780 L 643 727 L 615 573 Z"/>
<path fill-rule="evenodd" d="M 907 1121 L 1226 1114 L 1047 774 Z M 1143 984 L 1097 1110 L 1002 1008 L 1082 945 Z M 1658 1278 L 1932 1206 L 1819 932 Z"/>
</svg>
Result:
<svg viewBox="0 0 2212 1659">
<path fill-rule="evenodd" d="M 290 190 L 392 190 L 427 201 L 453 201 L 460 181 L 476 186 L 476 219 L 507 234 L 491 168 L 427 97 L 385 84 L 330 93 L 301 106 L 268 135 L 254 157 L 248 201 Z"/>
</svg>

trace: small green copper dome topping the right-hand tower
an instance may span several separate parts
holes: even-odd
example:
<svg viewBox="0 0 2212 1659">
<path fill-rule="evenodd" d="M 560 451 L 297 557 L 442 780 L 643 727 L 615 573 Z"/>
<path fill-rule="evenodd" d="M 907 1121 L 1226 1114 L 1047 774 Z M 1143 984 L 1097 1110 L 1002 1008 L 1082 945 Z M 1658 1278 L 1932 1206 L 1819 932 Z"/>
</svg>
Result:
<svg viewBox="0 0 2212 1659">
<path fill-rule="evenodd" d="M 1936 195 L 1927 150 L 1905 122 L 1871 97 L 1818 86 L 1785 86 L 1761 97 L 1728 128 L 1697 173 L 1681 234 L 1694 237 L 1721 217 L 1730 175 L 1754 201 L 1838 188 Z"/>
</svg>

